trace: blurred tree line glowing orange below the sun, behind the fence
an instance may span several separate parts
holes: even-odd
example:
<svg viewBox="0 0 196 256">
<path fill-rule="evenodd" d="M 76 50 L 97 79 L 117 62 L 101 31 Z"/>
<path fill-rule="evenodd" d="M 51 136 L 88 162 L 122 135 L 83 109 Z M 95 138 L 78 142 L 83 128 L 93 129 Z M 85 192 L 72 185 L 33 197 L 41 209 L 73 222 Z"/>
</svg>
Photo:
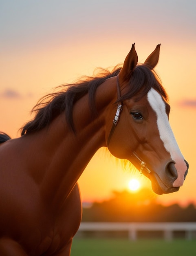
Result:
<svg viewBox="0 0 196 256">
<path fill-rule="evenodd" d="M 113 191 L 113 197 L 83 208 L 83 222 L 196 222 L 194 204 L 163 206 L 149 189 Z"/>
</svg>

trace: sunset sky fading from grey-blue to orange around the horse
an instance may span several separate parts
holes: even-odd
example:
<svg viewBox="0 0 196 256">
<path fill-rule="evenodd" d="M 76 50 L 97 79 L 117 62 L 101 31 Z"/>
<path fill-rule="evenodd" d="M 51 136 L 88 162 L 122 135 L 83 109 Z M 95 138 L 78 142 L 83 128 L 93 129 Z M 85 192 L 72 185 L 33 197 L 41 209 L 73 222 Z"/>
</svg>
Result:
<svg viewBox="0 0 196 256">
<path fill-rule="evenodd" d="M 196 204 L 196 1 L 0 0 L 0 130 L 19 137 L 30 110 L 52 88 L 123 63 L 132 43 L 139 62 L 161 43 L 156 66 L 171 105 L 170 124 L 189 162 L 180 191 L 163 204 Z M 83 201 L 109 198 L 137 177 L 100 149 L 79 179 Z M 155 196 L 152 192 L 152 197 Z"/>
</svg>

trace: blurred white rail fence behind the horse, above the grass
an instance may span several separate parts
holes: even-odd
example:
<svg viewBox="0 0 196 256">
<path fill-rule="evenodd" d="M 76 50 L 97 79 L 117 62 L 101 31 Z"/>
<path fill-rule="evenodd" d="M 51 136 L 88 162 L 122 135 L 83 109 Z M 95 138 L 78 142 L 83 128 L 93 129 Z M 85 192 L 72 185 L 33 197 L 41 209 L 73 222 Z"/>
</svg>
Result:
<svg viewBox="0 0 196 256">
<path fill-rule="evenodd" d="M 78 232 L 126 231 L 130 240 L 137 239 L 139 231 L 161 231 L 166 240 L 172 240 L 174 231 L 184 232 L 186 239 L 195 238 L 196 222 L 81 222 Z"/>
</svg>

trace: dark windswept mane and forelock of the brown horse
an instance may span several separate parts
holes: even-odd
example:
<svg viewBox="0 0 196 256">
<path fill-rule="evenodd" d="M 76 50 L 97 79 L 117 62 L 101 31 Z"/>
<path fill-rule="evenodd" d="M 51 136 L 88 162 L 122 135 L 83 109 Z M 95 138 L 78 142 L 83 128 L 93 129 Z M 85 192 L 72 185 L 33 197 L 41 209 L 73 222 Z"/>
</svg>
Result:
<svg viewBox="0 0 196 256">
<path fill-rule="evenodd" d="M 96 89 L 99 85 L 104 83 L 106 79 L 117 76 L 120 70 L 121 67 L 119 67 L 119 65 L 117 65 L 111 72 L 109 70 L 101 69 L 101 72 L 98 74 L 94 73 L 92 77 L 84 76 L 76 83 L 58 86 L 56 88 L 59 90 L 58 92 L 47 94 L 33 107 L 31 112 L 35 112 L 35 117 L 21 128 L 21 135 L 38 131 L 49 126 L 53 119 L 62 112 L 65 113 L 68 126 L 75 132 L 72 117 L 74 103 L 88 93 L 90 110 L 92 115 L 96 115 Z M 145 64 L 139 64 L 135 67 L 130 76 L 129 84 L 130 90 L 119 98 L 117 102 L 130 99 L 135 95 L 138 95 L 137 100 L 139 100 L 148 93 L 150 88 L 154 88 L 158 91 L 165 101 L 167 101 L 167 94 L 161 85 L 159 77 Z"/>
</svg>

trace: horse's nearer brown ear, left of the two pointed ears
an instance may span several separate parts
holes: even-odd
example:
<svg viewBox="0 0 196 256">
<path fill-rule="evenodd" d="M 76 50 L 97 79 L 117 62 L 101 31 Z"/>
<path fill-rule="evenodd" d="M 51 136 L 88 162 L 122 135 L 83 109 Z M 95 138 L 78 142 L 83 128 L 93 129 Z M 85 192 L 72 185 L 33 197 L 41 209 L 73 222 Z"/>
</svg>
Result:
<svg viewBox="0 0 196 256">
<path fill-rule="evenodd" d="M 120 83 L 130 78 L 130 74 L 135 69 L 137 62 L 138 62 L 138 56 L 137 56 L 137 52 L 135 51 L 135 44 L 133 44 L 129 54 L 126 56 L 123 67 L 119 73 Z"/>
</svg>

